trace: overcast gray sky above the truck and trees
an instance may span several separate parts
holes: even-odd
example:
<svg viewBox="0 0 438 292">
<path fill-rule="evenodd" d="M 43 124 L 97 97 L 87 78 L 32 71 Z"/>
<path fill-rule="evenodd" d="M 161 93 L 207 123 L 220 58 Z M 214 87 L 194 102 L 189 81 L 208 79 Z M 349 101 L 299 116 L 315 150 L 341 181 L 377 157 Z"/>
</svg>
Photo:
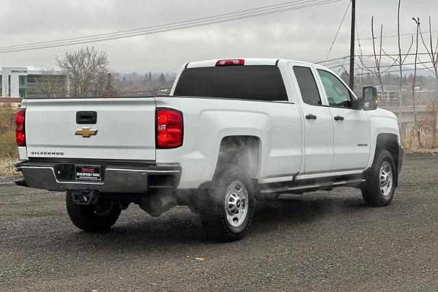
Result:
<svg viewBox="0 0 438 292">
<path fill-rule="evenodd" d="M 0 47 L 148 27 L 286 1 L 2 0 Z M 371 36 L 373 15 L 376 27 L 383 24 L 384 35 L 396 34 L 397 3 L 397 0 L 357 0 L 359 38 Z M 112 67 L 122 73 L 177 71 L 185 62 L 231 57 L 318 62 L 326 58 L 347 5 L 348 0 L 344 0 L 253 19 L 92 45 L 107 51 Z M 438 30 L 437 0 L 403 0 L 401 10 L 402 34 L 415 32 L 413 16 L 420 17 L 423 30 L 426 30 L 431 15 L 432 29 Z M 437 33 L 435 39 L 436 36 Z M 397 52 L 396 40 L 383 40 L 387 52 Z M 409 47 L 411 36 L 404 36 L 402 40 L 403 47 Z M 350 12 L 329 59 L 346 56 L 349 42 Z M 371 40 L 361 41 L 364 54 L 372 53 L 371 45 Z M 0 53 L 0 66 L 55 67 L 54 56 L 83 46 L 86 45 Z M 424 51 L 423 47 L 419 51 Z"/>
</svg>

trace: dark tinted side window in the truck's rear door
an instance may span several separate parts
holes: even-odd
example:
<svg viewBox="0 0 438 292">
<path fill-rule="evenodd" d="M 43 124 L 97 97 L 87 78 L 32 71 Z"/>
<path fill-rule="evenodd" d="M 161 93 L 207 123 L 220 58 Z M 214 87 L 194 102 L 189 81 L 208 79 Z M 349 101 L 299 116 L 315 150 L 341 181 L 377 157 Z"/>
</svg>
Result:
<svg viewBox="0 0 438 292">
<path fill-rule="evenodd" d="M 294 66 L 294 73 L 300 92 L 302 101 L 311 106 L 322 105 L 320 92 L 316 86 L 315 78 L 309 67 Z"/>
</svg>

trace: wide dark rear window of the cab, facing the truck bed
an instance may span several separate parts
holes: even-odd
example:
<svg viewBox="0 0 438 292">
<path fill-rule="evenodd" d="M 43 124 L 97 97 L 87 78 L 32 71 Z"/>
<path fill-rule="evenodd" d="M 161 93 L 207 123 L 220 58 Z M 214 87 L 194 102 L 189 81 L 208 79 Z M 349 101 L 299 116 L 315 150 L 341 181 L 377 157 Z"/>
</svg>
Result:
<svg viewBox="0 0 438 292">
<path fill-rule="evenodd" d="M 174 95 L 256 101 L 288 101 L 278 66 L 243 65 L 185 69 Z"/>
</svg>

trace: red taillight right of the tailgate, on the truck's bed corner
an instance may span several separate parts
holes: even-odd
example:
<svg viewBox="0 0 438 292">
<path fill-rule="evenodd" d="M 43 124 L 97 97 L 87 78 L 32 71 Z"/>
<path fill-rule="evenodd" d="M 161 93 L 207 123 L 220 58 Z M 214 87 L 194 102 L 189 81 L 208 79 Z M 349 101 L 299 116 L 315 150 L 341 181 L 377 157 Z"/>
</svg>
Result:
<svg viewBox="0 0 438 292">
<path fill-rule="evenodd" d="M 157 110 L 157 148 L 183 145 L 183 114 L 178 110 Z"/>
</svg>

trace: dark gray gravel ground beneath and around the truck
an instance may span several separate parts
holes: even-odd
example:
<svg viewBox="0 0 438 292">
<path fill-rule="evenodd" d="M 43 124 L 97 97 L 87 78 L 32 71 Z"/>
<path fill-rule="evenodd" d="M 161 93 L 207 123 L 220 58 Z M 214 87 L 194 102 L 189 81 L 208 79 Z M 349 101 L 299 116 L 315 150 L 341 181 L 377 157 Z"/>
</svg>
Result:
<svg viewBox="0 0 438 292">
<path fill-rule="evenodd" d="M 360 191 L 283 195 L 257 206 L 235 243 L 205 239 L 198 217 L 131 205 L 110 232 L 68 220 L 63 193 L 0 180 L 0 290 L 438 289 L 438 156 L 405 156 L 391 206 Z"/>
</svg>

